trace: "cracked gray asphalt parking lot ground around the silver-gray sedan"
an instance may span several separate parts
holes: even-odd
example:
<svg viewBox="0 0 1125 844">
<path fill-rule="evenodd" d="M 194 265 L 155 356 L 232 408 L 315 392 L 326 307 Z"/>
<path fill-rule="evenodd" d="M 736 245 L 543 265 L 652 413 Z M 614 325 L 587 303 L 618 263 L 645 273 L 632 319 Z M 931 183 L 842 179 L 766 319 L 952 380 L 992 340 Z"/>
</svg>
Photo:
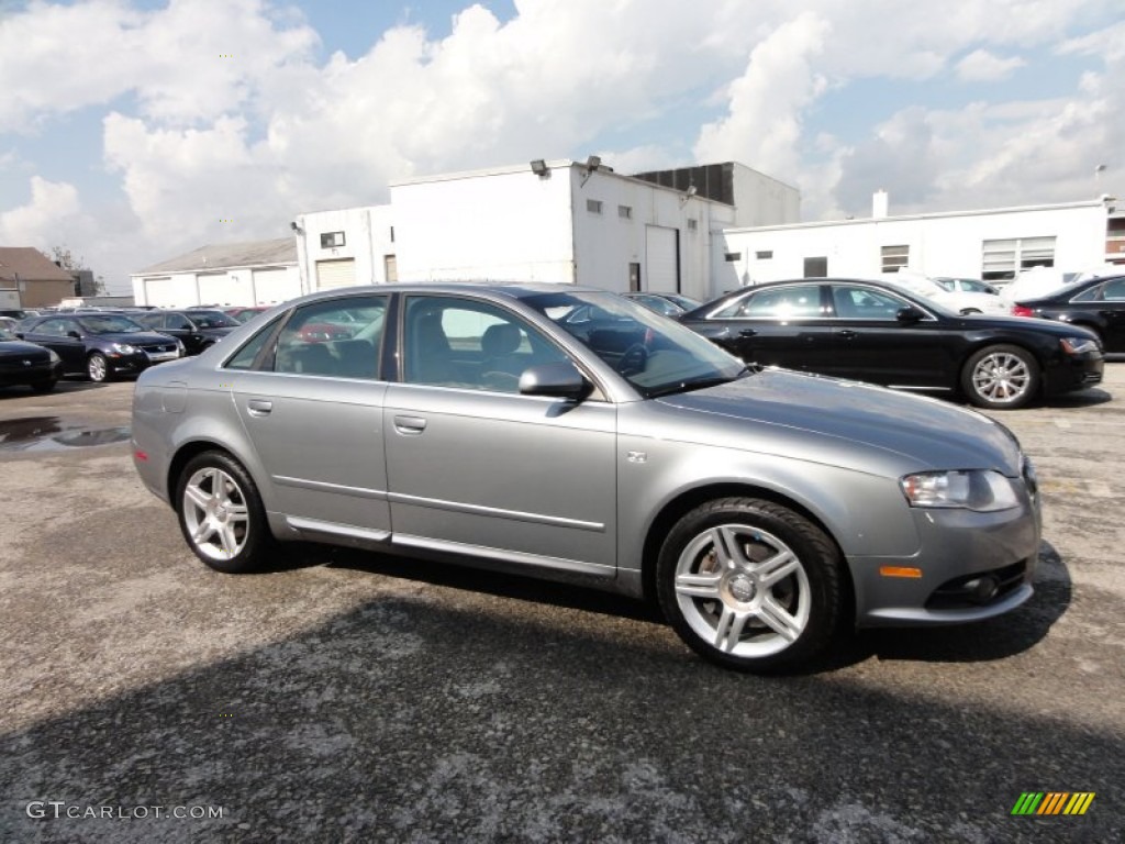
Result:
<svg viewBox="0 0 1125 844">
<path fill-rule="evenodd" d="M 0 390 L 2 842 L 1125 837 L 1125 362 L 999 414 L 1043 490 L 1029 603 L 771 679 L 556 584 L 210 572 L 133 470 L 132 389 Z"/>
</svg>

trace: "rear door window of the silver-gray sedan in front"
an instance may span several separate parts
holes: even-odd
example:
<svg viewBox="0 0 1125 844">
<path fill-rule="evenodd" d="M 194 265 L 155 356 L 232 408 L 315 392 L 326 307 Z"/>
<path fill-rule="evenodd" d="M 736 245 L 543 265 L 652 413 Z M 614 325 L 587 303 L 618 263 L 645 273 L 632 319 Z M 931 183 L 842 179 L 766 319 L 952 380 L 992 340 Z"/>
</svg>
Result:
<svg viewBox="0 0 1125 844">
<path fill-rule="evenodd" d="M 299 307 L 278 335 L 273 371 L 376 380 L 386 315 L 386 296 Z"/>
</svg>

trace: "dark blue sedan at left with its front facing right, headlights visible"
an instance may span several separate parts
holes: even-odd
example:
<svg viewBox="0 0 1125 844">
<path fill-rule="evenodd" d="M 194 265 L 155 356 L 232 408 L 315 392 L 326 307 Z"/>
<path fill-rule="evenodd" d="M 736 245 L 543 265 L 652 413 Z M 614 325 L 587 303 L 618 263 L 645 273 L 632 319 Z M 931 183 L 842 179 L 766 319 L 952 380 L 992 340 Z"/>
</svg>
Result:
<svg viewBox="0 0 1125 844">
<path fill-rule="evenodd" d="M 53 349 L 64 375 L 84 375 L 92 381 L 136 375 L 183 353 L 174 338 L 147 331 L 123 314 L 37 316 L 20 324 L 19 336 Z"/>
</svg>

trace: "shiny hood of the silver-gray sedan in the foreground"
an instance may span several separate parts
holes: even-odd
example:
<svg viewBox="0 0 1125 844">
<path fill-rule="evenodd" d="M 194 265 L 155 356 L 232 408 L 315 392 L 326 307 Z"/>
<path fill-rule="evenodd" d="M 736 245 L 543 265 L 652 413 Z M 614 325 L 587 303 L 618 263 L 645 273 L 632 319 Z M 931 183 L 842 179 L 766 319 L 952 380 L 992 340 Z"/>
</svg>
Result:
<svg viewBox="0 0 1125 844">
<path fill-rule="evenodd" d="M 1016 476 L 1020 470 L 1016 438 L 988 416 L 860 381 L 765 369 L 656 401 L 719 425 L 723 445 L 748 437 L 749 447 L 758 449 L 768 439 L 768 449 L 864 470 L 879 454 L 888 474 L 997 469 Z"/>
</svg>

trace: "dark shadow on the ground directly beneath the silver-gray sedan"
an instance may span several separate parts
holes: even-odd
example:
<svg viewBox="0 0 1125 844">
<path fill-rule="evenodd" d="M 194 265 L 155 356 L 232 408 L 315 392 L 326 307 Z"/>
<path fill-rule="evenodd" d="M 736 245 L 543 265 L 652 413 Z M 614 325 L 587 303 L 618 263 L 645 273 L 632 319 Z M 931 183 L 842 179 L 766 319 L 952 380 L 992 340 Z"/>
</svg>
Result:
<svg viewBox="0 0 1125 844">
<path fill-rule="evenodd" d="M 367 572 L 496 598 L 594 612 L 667 626 L 652 602 L 572 583 L 390 554 L 297 544 L 270 571 L 331 566 Z M 789 675 L 832 672 L 868 659 L 979 663 L 1005 659 L 1043 640 L 1071 602 L 1072 583 L 1059 553 L 1044 541 L 1034 580 L 1035 594 L 1023 607 L 988 621 L 929 628 L 873 628 L 842 631 L 819 658 L 786 670 Z"/>
</svg>

